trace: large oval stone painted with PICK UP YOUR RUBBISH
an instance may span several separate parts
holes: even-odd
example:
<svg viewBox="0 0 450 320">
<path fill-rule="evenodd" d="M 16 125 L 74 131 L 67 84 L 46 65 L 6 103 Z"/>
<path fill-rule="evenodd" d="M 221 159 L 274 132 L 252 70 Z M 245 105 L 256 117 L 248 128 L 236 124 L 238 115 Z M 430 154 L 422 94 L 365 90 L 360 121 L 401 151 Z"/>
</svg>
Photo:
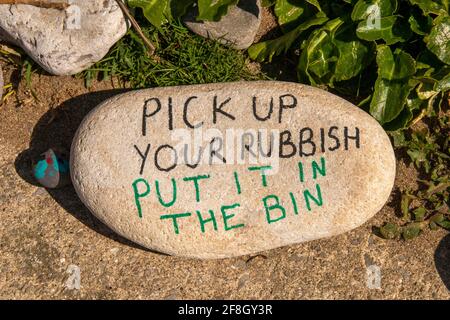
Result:
<svg viewBox="0 0 450 320">
<path fill-rule="evenodd" d="M 395 177 L 371 116 L 275 81 L 116 96 L 83 120 L 70 165 L 81 200 L 117 233 L 205 259 L 354 229 L 383 207 Z"/>
</svg>

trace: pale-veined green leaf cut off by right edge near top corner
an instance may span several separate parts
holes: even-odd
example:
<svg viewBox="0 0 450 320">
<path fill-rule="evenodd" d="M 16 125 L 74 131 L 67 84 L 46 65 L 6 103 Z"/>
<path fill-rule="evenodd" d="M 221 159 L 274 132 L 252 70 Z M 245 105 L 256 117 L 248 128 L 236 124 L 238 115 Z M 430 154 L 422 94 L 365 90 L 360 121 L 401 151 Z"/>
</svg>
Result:
<svg viewBox="0 0 450 320">
<path fill-rule="evenodd" d="M 442 62 L 450 64 L 450 17 L 440 16 L 433 24 L 430 34 L 425 38 L 427 48 Z"/>
</svg>

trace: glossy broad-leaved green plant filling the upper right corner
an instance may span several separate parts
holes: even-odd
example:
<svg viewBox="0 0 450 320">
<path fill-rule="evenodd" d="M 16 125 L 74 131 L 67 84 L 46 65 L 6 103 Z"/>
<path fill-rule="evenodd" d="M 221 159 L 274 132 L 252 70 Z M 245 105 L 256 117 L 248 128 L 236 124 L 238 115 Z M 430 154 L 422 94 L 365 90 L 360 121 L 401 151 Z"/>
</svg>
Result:
<svg viewBox="0 0 450 320">
<path fill-rule="evenodd" d="M 263 3 L 284 34 L 251 46 L 252 59 L 300 49 L 300 82 L 350 92 L 389 131 L 439 112 L 450 90 L 448 0 Z"/>
</svg>

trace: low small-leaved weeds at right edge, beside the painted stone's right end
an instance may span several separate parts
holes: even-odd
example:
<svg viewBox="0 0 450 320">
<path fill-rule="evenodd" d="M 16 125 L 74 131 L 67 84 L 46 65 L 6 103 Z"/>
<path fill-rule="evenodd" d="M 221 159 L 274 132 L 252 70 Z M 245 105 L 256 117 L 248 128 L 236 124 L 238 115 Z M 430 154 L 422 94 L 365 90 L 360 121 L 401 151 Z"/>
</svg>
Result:
<svg viewBox="0 0 450 320">
<path fill-rule="evenodd" d="M 425 229 L 450 230 L 450 124 L 448 115 L 432 117 L 434 123 L 420 130 L 392 133 L 394 145 L 404 149 L 419 170 L 420 188 L 404 190 L 400 225 L 386 223 L 379 231 L 387 239 L 400 235 L 405 240 Z"/>
</svg>

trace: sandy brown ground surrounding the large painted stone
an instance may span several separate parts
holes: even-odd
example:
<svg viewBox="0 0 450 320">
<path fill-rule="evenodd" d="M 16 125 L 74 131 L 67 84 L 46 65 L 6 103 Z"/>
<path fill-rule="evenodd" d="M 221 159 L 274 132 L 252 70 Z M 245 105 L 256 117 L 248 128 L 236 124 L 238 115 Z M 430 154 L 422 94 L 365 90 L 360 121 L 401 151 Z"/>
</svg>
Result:
<svg viewBox="0 0 450 320">
<path fill-rule="evenodd" d="M 269 19 L 261 34 L 272 29 Z M 398 190 L 415 185 L 416 171 L 401 155 L 389 202 L 349 233 L 255 257 L 170 257 L 115 235 L 71 186 L 47 191 L 30 176 L 34 156 L 49 147 L 68 149 L 83 116 L 120 90 L 110 82 L 88 90 L 79 79 L 36 74 L 35 101 L 17 83 L 17 72 L 2 67 L 5 83 L 19 89 L 0 106 L 0 298 L 450 299 L 448 232 L 425 232 L 408 242 L 372 233 L 395 220 Z M 81 287 L 71 289 L 67 282 L 77 268 Z M 379 287 L 371 281 L 376 270 Z"/>
</svg>

